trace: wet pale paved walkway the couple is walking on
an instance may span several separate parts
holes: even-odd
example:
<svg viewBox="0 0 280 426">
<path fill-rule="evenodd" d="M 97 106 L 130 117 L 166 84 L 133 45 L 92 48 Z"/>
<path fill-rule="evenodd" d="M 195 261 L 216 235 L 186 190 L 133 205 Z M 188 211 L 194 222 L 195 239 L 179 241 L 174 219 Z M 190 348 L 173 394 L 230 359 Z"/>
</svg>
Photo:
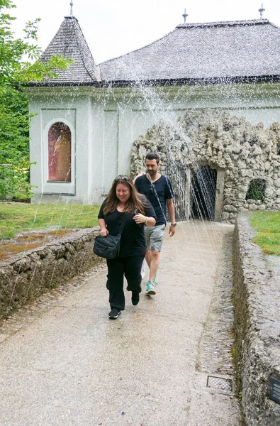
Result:
<svg viewBox="0 0 280 426">
<path fill-rule="evenodd" d="M 172 239 L 166 233 L 157 295 L 142 294 L 133 307 L 127 293 L 118 320 L 108 320 L 105 268 L 35 313 L 0 343 L 0 425 L 240 425 L 229 382 L 207 387 L 209 375 L 225 377 L 211 363 L 201 368 L 232 233 L 210 222 L 181 223 Z M 210 359 L 218 356 L 210 347 Z"/>
</svg>

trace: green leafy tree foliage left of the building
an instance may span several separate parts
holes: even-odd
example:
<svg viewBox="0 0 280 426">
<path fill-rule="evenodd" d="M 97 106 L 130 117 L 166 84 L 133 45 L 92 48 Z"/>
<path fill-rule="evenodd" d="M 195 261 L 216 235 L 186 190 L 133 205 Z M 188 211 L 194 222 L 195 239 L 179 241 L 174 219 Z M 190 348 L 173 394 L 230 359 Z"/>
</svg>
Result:
<svg viewBox="0 0 280 426">
<path fill-rule="evenodd" d="M 22 87 L 46 76 L 58 77 L 56 71 L 73 61 L 55 55 L 40 62 L 42 50 L 36 43 L 40 18 L 27 22 L 23 38 L 16 38 L 11 28 L 16 18 L 9 13 L 15 7 L 12 0 L 0 0 L 0 195 L 28 197 L 31 116 Z"/>
</svg>

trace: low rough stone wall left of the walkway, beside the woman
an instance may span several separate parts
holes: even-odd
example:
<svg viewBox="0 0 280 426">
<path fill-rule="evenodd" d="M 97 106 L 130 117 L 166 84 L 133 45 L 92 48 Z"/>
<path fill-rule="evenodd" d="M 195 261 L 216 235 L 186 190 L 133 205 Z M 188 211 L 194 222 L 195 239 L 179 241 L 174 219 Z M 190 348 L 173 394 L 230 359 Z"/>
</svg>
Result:
<svg viewBox="0 0 280 426">
<path fill-rule="evenodd" d="M 99 263 L 93 251 L 97 229 L 74 232 L 0 262 L 0 318 Z"/>
</svg>

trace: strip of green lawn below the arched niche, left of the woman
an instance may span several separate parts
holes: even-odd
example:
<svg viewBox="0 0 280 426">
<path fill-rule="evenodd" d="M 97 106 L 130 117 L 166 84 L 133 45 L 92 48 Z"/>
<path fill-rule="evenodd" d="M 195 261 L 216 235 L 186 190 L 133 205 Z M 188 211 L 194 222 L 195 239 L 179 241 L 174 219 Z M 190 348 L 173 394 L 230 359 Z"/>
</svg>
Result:
<svg viewBox="0 0 280 426">
<path fill-rule="evenodd" d="M 91 228 L 98 205 L 0 203 L 0 239 L 35 229 Z"/>
</svg>

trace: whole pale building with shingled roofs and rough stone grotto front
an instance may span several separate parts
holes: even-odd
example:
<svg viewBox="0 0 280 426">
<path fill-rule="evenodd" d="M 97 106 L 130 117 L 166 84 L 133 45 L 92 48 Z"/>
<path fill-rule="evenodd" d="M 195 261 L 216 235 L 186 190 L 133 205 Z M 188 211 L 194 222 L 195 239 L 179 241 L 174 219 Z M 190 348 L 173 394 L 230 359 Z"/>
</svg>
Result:
<svg viewBox="0 0 280 426">
<path fill-rule="evenodd" d="M 37 114 L 30 131 L 33 202 L 100 203 L 116 175 L 130 167 L 136 173 L 145 149 L 161 146 L 163 166 L 174 177 L 184 172 L 180 217 L 233 220 L 239 209 L 278 208 L 279 45 L 280 29 L 267 19 L 184 23 L 96 65 L 70 13 L 42 60 L 60 53 L 74 64 L 58 79 L 26 88 Z M 205 173 L 214 182 L 210 214 L 201 208 L 208 202 L 198 200 L 208 187 L 191 191 Z"/>
</svg>

